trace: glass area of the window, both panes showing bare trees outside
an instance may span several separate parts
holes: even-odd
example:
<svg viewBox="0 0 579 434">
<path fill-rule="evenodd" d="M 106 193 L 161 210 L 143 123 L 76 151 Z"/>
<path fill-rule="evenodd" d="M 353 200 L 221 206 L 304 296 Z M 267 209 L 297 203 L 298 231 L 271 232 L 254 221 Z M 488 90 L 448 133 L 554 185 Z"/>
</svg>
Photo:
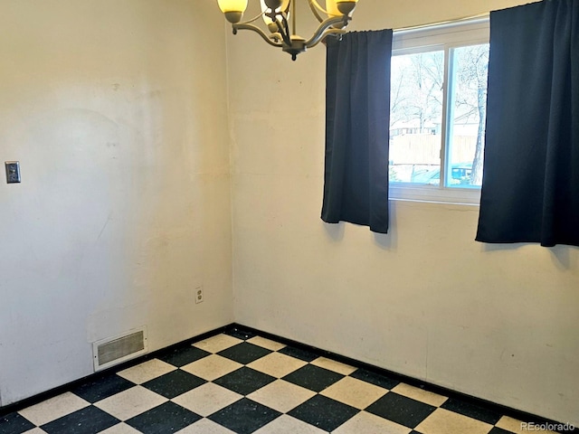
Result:
<svg viewBox="0 0 579 434">
<path fill-rule="evenodd" d="M 445 55 L 449 56 L 448 83 Z M 391 181 L 441 184 L 445 130 L 446 186 L 481 184 L 488 65 L 488 43 L 393 57 Z M 447 108 L 443 101 L 445 85 Z M 442 120 L 444 110 L 446 125 Z"/>
</svg>

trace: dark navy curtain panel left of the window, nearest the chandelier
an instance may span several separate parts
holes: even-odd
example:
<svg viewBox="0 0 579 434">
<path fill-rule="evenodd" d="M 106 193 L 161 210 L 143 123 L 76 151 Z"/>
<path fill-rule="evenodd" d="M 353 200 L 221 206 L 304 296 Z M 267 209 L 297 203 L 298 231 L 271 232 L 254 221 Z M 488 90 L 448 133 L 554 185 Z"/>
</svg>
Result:
<svg viewBox="0 0 579 434">
<path fill-rule="evenodd" d="M 322 220 L 388 231 L 392 30 L 328 38 Z"/>
</svg>

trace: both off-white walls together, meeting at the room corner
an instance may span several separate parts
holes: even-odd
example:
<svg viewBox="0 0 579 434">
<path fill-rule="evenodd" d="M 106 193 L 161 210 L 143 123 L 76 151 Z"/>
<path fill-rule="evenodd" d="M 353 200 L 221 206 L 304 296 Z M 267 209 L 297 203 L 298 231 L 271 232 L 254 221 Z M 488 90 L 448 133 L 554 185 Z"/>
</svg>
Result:
<svg viewBox="0 0 579 434">
<path fill-rule="evenodd" d="M 520 3 L 362 0 L 352 29 Z M 324 48 L 239 33 L 226 68 L 223 27 L 213 1 L 0 3 L 0 162 L 23 171 L 0 182 L 0 405 L 90 374 L 98 339 L 233 321 L 231 138 L 236 321 L 579 424 L 579 251 L 476 243 L 460 205 L 322 223 Z"/>
</svg>

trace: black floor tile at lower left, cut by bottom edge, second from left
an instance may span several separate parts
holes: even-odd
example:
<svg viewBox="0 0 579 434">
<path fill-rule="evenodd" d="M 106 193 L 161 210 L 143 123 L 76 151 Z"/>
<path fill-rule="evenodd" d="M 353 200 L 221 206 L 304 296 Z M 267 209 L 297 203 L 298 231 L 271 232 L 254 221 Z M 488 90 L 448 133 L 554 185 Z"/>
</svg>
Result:
<svg viewBox="0 0 579 434">
<path fill-rule="evenodd" d="M 120 422 L 109 413 L 100 410 L 92 405 L 84 409 L 74 411 L 71 414 L 62 416 L 57 420 L 52 420 L 40 428 L 48 434 L 96 434 L 104 429 L 108 429 Z"/>
</svg>

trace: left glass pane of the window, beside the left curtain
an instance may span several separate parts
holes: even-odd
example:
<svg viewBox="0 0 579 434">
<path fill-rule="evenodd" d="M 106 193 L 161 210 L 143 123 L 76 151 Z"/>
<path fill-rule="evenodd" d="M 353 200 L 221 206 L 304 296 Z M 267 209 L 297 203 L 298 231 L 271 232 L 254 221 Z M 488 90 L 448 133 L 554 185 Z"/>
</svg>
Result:
<svg viewBox="0 0 579 434">
<path fill-rule="evenodd" d="M 440 184 L 444 52 L 392 58 L 390 181 Z"/>
</svg>

